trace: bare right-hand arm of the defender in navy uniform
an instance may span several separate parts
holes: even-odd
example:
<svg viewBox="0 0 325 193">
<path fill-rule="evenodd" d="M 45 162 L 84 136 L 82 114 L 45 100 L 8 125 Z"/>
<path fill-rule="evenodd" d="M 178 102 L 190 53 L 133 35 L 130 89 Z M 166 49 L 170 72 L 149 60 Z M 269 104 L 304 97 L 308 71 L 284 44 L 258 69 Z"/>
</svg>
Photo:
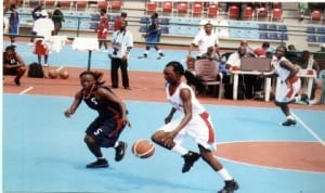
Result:
<svg viewBox="0 0 325 193">
<path fill-rule="evenodd" d="M 100 98 L 112 101 L 114 103 L 117 103 L 121 110 L 121 119 L 123 121 L 123 124 L 127 124 L 129 127 L 131 127 L 131 123 L 129 121 L 129 119 L 127 118 L 127 105 L 126 103 L 119 99 L 116 94 L 114 94 L 113 92 L 110 92 L 107 89 L 104 88 L 100 88 L 98 90 L 98 94 Z"/>
</svg>

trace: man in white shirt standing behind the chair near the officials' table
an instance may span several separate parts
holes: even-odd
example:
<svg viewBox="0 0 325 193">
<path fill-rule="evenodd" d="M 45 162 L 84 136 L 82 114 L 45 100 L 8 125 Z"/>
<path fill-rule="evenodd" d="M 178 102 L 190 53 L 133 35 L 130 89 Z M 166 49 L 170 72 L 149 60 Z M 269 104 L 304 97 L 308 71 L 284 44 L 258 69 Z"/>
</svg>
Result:
<svg viewBox="0 0 325 193">
<path fill-rule="evenodd" d="M 203 54 L 208 52 L 209 47 L 216 47 L 219 43 L 218 35 L 213 31 L 213 26 L 210 23 L 205 24 L 204 31 L 195 36 L 193 42 L 190 44 L 188 56 L 192 57 L 194 47 L 198 47 L 199 54 L 196 59 L 200 59 Z"/>
</svg>

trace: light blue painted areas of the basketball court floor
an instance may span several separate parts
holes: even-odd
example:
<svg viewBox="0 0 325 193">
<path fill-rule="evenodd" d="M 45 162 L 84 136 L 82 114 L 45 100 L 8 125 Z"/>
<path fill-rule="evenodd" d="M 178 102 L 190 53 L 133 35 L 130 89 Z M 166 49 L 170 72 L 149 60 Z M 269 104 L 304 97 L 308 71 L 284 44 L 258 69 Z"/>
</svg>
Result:
<svg viewBox="0 0 325 193">
<path fill-rule="evenodd" d="M 26 63 L 36 60 L 29 53 L 30 49 L 25 46 L 17 48 Z M 50 64 L 87 66 L 87 52 L 75 52 L 70 47 L 63 49 L 50 56 Z M 152 50 L 153 59 L 140 62 L 136 56 L 142 52 L 143 49 L 133 50 L 130 70 L 160 72 L 167 62 L 186 56 L 186 51 L 169 50 L 165 52 L 168 55 L 166 59 L 156 61 L 157 54 Z M 60 54 L 64 54 L 64 57 Z M 94 52 L 92 66 L 109 68 L 106 54 Z M 150 139 L 164 124 L 170 111 L 167 103 L 126 101 L 132 127 L 127 128 L 120 137 L 129 144 L 125 159 L 116 163 L 114 150 L 102 149 L 109 167 L 87 169 L 86 165 L 95 158 L 83 143 L 84 129 L 96 113 L 82 103 L 72 118 L 66 118 L 63 112 L 72 102 L 72 98 L 64 97 L 3 94 L 4 192 L 216 193 L 223 186 L 219 175 L 202 159 L 190 172 L 182 173 L 183 159 L 165 149 L 156 146 L 155 154 L 147 159 L 132 155 L 132 143 L 138 139 Z M 243 141 L 324 144 L 325 113 L 322 111 L 292 110 L 301 121 L 296 127 L 284 128 L 278 125 L 284 116 L 275 107 L 205 106 L 211 114 L 218 144 Z M 197 151 L 191 139 L 185 141 L 184 146 Z M 264 167 L 219 158 L 238 181 L 238 193 L 325 193 L 325 172 Z"/>
</svg>

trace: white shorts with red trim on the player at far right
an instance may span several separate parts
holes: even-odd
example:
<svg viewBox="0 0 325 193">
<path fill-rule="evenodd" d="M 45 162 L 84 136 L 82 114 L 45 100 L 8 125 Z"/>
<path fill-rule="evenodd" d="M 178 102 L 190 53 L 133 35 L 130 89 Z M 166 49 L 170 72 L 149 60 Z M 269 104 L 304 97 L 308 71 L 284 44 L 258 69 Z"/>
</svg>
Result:
<svg viewBox="0 0 325 193">
<path fill-rule="evenodd" d="M 300 78 L 298 78 L 292 83 L 291 88 L 288 88 L 285 81 L 281 81 L 276 90 L 275 100 L 277 102 L 283 102 L 283 103 L 289 102 L 298 93 L 300 87 L 301 87 Z"/>
</svg>

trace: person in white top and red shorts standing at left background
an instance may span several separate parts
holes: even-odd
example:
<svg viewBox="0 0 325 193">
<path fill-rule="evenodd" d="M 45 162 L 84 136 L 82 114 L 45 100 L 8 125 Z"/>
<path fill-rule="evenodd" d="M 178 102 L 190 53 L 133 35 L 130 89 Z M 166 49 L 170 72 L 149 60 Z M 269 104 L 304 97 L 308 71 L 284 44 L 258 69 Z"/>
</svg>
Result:
<svg viewBox="0 0 325 193">
<path fill-rule="evenodd" d="M 49 59 L 49 48 L 42 44 L 44 38 L 48 38 L 53 35 L 54 24 L 51 18 L 49 18 L 49 14 L 47 10 L 42 10 L 40 13 L 41 17 L 37 20 L 34 24 L 34 31 L 37 36 L 42 36 L 42 38 L 37 38 L 35 42 L 34 53 L 37 54 L 38 63 L 41 64 L 41 56 L 44 56 L 43 66 L 49 67 L 48 59 Z"/>
</svg>

